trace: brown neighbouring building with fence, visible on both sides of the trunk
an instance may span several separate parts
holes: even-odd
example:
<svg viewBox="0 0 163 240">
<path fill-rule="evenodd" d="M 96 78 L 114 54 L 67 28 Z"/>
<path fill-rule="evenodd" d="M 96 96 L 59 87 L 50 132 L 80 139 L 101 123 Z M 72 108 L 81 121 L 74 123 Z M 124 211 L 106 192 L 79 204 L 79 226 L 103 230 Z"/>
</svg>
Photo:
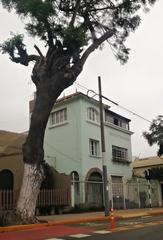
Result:
<svg viewBox="0 0 163 240">
<path fill-rule="evenodd" d="M 0 130 L 0 210 L 16 206 L 23 178 L 22 145 L 26 137 L 25 133 Z M 60 174 L 52 167 L 46 167 L 45 174 L 38 206 L 69 206 L 70 176 Z M 53 188 L 52 192 L 45 191 L 49 188 Z"/>
</svg>

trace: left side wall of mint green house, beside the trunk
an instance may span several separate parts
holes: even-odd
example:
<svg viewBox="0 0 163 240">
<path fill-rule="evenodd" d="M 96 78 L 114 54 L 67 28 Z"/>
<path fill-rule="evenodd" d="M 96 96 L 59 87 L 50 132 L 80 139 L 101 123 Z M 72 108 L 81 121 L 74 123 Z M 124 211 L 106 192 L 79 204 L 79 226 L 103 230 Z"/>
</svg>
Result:
<svg viewBox="0 0 163 240">
<path fill-rule="evenodd" d="M 81 169 L 81 128 L 80 128 L 80 101 L 57 104 L 55 111 L 67 108 L 67 122 L 52 127 L 48 122 L 44 150 L 45 159 L 57 171 L 70 174 Z"/>
</svg>

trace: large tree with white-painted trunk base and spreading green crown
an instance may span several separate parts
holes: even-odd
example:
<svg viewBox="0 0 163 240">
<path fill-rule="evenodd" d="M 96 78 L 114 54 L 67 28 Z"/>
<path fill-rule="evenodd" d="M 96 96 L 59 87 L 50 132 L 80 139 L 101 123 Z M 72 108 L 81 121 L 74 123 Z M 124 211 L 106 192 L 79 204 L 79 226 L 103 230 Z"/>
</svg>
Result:
<svg viewBox="0 0 163 240">
<path fill-rule="evenodd" d="M 107 41 L 121 63 L 128 59 L 124 45 L 140 23 L 141 8 L 156 0 L 0 0 L 15 10 L 26 32 L 45 43 L 46 54 L 37 45 L 29 54 L 22 34 L 1 44 L 10 60 L 28 66 L 33 62 L 32 81 L 36 101 L 27 140 L 23 145 L 24 178 L 16 214 L 22 222 L 35 221 L 37 196 L 44 178 L 43 141 L 51 109 L 61 92 L 72 85 L 89 55 Z"/>
</svg>

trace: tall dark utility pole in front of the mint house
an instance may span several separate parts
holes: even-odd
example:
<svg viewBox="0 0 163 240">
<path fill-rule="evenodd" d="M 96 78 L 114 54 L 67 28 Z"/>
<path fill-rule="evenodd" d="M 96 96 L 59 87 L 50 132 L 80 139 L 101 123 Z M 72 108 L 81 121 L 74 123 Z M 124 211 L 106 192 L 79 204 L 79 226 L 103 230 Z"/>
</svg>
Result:
<svg viewBox="0 0 163 240">
<path fill-rule="evenodd" d="M 103 193 L 104 193 L 104 207 L 105 216 L 109 215 L 109 188 L 106 167 L 106 151 L 105 151 L 105 135 L 104 135 L 104 120 L 103 120 L 103 104 L 102 104 L 102 90 L 101 77 L 98 77 L 99 87 L 99 108 L 100 108 L 100 129 L 101 129 L 101 151 L 102 151 L 102 171 L 103 171 Z"/>
</svg>

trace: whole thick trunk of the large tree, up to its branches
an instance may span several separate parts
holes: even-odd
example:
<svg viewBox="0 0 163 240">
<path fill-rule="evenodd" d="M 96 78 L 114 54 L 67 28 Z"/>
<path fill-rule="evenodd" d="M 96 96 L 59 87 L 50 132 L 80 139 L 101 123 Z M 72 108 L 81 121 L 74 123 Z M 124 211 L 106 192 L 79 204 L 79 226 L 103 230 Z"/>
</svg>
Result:
<svg viewBox="0 0 163 240">
<path fill-rule="evenodd" d="M 47 57 L 35 64 L 32 75 L 37 93 L 28 137 L 23 145 L 24 177 L 16 210 L 17 219 L 22 223 L 36 221 L 36 202 L 44 179 L 44 134 L 50 112 L 61 92 L 79 74 L 79 71 L 66 73 L 70 59 L 65 58 L 59 48 L 49 50 Z"/>
</svg>

